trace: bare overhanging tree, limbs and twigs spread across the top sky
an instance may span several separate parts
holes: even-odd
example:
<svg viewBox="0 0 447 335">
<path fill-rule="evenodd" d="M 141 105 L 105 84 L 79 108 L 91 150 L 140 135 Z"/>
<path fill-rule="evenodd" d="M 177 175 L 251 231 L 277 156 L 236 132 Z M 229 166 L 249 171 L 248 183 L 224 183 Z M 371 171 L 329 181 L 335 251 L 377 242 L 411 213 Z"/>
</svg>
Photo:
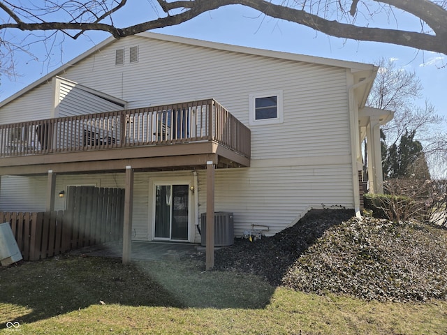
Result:
<svg viewBox="0 0 447 335">
<path fill-rule="evenodd" d="M 209 10 L 239 4 L 270 17 L 303 24 L 330 36 L 353 40 L 369 40 L 414 47 L 447 54 L 447 1 L 428 0 L 152 0 L 154 20 L 129 27 L 116 27 L 115 14 L 128 6 L 126 0 L 47 0 L 0 1 L 0 9 L 8 20 L 0 31 L 63 31 L 78 38 L 85 31 L 108 31 L 116 38 L 151 29 L 180 24 Z M 418 18 L 414 31 L 399 29 L 399 17 Z M 376 17 L 385 17 L 387 26 L 373 27 Z M 149 16 L 149 15 L 148 15 Z M 4 40 L 3 40 L 4 42 Z"/>
</svg>

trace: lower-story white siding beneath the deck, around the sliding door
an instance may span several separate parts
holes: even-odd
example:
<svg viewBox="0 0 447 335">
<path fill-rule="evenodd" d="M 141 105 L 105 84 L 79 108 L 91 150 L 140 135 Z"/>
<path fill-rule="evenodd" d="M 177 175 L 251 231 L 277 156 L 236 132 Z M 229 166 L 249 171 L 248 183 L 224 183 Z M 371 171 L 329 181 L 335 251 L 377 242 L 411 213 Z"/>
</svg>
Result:
<svg viewBox="0 0 447 335">
<path fill-rule="evenodd" d="M 272 235 L 297 221 L 309 207 L 337 205 L 351 208 L 349 171 L 347 164 L 217 170 L 215 209 L 233 212 L 236 237 L 242 237 L 244 231 L 251 230 L 252 224 L 268 226 L 270 230 L 265 233 Z M 149 240 L 152 237 L 152 203 L 149 203 L 152 190 L 149 190 L 149 181 L 182 176 L 190 179 L 192 184 L 191 171 L 135 173 L 132 239 Z M 196 242 L 200 241 L 196 222 L 199 222 L 201 213 L 206 213 L 206 184 L 206 172 L 199 171 L 198 189 L 191 197 L 191 201 L 196 201 L 198 196 L 199 204 L 198 213 L 191 215 L 190 225 Z M 66 190 L 68 185 L 124 188 L 124 173 L 59 175 L 56 194 Z M 46 187 L 46 176 L 2 177 L 0 210 L 45 211 Z M 64 209 L 65 202 L 66 198 L 56 197 L 55 209 Z"/>
</svg>

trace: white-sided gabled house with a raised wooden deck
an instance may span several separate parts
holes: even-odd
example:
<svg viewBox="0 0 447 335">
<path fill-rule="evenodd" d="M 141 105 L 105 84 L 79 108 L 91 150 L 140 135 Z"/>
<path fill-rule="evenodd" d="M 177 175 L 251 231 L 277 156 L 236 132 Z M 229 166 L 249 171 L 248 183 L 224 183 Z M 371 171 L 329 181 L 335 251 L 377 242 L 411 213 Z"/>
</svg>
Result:
<svg viewBox="0 0 447 335">
<path fill-rule="evenodd" d="M 275 234 L 382 191 L 378 68 L 143 33 L 108 38 L 0 103 L 0 211 L 64 209 L 68 186 L 126 189 L 130 239 L 199 242 L 200 219 Z M 209 219 L 208 219 L 209 218 Z M 212 246 L 211 238 L 208 246 Z M 212 256 L 210 256 L 212 257 Z M 212 260 L 210 260 L 212 262 Z"/>
</svg>

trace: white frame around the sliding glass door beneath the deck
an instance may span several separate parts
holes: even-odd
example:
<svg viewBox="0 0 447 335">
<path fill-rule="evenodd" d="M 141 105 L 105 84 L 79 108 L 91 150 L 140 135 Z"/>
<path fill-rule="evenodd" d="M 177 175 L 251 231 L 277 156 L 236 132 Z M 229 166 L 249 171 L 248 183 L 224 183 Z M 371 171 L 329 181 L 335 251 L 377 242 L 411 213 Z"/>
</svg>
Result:
<svg viewBox="0 0 447 335">
<path fill-rule="evenodd" d="M 188 204 L 188 237 L 186 240 L 179 239 L 162 239 L 155 238 L 155 207 L 156 207 L 156 186 L 160 185 L 188 185 L 189 190 L 189 204 Z M 148 227 L 150 241 L 178 241 L 178 242 L 190 242 L 193 243 L 195 239 L 196 228 L 196 195 L 191 190 L 194 188 L 194 180 L 191 176 L 179 176 L 179 177 L 154 177 L 149 179 L 149 215 L 148 215 Z"/>
</svg>

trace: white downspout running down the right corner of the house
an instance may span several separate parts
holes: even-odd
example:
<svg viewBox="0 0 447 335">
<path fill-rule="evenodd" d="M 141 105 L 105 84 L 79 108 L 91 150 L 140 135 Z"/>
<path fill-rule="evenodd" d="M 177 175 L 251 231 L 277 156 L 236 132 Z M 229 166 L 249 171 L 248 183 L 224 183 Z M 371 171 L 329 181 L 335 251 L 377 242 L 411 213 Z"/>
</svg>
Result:
<svg viewBox="0 0 447 335">
<path fill-rule="evenodd" d="M 348 89 L 348 100 L 349 100 L 349 124 L 351 131 L 351 166 L 352 166 L 352 181 L 353 181 L 353 196 L 354 196 L 354 210 L 356 211 L 356 217 L 360 218 L 362 215 L 360 213 L 360 188 L 358 184 L 358 167 L 357 167 L 357 143 L 359 138 L 358 130 L 358 118 L 356 118 L 356 112 L 358 112 L 358 106 L 355 105 L 356 100 L 354 99 L 354 89 L 361 87 L 362 85 L 368 84 L 374 81 L 376 77 L 374 70 L 372 74 L 365 80 L 358 82 L 356 84 L 351 84 Z M 352 78 L 352 77 L 351 77 Z M 348 78 L 350 79 L 350 78 Z"/>
</svg>

